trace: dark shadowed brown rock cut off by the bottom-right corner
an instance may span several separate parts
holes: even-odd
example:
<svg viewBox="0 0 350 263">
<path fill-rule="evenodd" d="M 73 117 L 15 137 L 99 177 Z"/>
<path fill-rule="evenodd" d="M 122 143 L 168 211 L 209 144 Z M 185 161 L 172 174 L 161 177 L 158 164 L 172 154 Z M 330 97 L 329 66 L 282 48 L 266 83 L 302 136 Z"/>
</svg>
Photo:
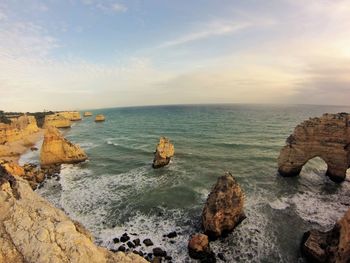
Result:
<svg viewBox="0 0 350 263">
<path fill-rule="evenodd" d="M 301 249 L 310 262 L 350 262 L 350 209 L 330 231 L 306 232 Z"/>
</svg>

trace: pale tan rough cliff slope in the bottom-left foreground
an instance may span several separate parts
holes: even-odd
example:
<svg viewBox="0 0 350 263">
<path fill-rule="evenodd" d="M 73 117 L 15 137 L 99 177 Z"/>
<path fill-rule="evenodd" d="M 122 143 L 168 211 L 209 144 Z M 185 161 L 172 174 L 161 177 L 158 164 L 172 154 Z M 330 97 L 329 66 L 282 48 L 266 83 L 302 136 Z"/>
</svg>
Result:
<svg viewBox="0 0 350 263">
<path fill-rule="evenodd" d="M 89 232 L 0 167 L 0 262 L 147 262 L 94 245 Z"/>
</svg>

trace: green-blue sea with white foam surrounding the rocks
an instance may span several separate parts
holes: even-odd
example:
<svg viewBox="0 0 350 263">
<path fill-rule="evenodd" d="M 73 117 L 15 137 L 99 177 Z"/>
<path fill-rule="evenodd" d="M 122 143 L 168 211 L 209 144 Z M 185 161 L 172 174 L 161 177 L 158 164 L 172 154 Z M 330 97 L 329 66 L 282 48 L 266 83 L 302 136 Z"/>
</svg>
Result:
<svg viewBox="0 0 350 263">
<path fill-rule="evenodd" d="M 206 198 L 225 172 L 241 185 L 247 216 L 226 238 L 210 243 L 226 262 L 306 262 L 300 253 L 303 233 L 332 228 L 350 208 L 350 169 L 341 184 L 325 176 L 319 158 L 297 177 L 277 173 L 279 151 L 297 124 L 350 107 L 225 104 L 90 111 L 104 114 L 106 121 L 86 117 L 62 130 L 86 151 L 88 161 L 62 165 L 60 177 L 36 191 L 83 223 L 98 245 L 117 249 L 113 238 L 127 232 L 141 241 L 150 238 L 172 262 L 196 262 L 187 243 L 201 231 Z M 171 140 L 175 156 L 168 166 L 153 169 L 160 136 Z M 39 151 L 24 154 L 20 162 L 38 160 Z M 177 237 L 167 238 L 172 231 Z"/>
</svg>

